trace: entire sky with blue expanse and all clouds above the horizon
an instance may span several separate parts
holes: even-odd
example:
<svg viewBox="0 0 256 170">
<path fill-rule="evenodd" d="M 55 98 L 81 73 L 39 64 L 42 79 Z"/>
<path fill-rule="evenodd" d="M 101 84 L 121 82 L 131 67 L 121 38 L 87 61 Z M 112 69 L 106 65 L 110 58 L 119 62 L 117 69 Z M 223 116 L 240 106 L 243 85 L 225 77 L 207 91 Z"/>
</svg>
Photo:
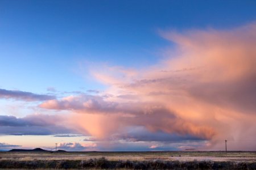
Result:
<svg viewBox="0 0 256 170">
<path fill-rule="evenodd" d="M 0 150 L 256 150 L 255 1 L 0 0 Z"/>
</svg>

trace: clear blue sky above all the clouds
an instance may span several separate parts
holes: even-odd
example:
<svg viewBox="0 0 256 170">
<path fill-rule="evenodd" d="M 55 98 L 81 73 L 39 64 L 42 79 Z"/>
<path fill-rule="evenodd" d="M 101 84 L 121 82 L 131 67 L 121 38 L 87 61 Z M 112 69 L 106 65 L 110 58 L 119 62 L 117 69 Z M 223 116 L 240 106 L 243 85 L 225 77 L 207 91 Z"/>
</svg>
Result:
<svg viewBox="0 0 256 170">
<path fill-rule="evenodd" d="M 96 82 L 77 75 L 80 62 L 151 65 L 171 45 L 159 30 L 235 27 L 256 19 L 255 6 L 255 1 L 0 1 L 1 87 L 94 88 Z"/>
</svg>

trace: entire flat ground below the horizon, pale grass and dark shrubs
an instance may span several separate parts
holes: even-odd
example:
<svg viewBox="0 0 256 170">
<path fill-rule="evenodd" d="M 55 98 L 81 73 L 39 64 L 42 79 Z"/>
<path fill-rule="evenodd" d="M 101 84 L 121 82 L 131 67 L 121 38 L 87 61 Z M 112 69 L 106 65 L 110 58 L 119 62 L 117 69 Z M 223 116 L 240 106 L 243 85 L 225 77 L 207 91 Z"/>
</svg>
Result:
<svg viewBox="0 0 256 170">
<path fill-rule="evenodd" d="M 0 152 L 0 168 L 256 169 L 256 152 Z"/>
</svg>

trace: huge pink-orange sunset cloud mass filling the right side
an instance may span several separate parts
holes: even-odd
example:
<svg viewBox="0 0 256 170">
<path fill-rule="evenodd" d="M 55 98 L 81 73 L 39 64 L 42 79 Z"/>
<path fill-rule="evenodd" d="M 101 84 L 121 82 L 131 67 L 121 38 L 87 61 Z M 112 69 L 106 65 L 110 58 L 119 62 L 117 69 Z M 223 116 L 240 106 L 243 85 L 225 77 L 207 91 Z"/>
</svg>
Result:
<svg viewBox="0 0 256 170">
<path fill-rule="evenodd" d="M 155 141 L 159 147 L 193 141 L 188 147 L 220 150 L 224 139 L 254 136 L 256 24 L 160 35 L 176 45 L 159 63 L 139 70 L 99 66 L 91 72 L 106 84 L 105 91 L 48 100 L 40 107 L 71 111 L 77 130 L 99 141 Z M 256 148 L 253 142 L 229 147 Z"/>
</svg>

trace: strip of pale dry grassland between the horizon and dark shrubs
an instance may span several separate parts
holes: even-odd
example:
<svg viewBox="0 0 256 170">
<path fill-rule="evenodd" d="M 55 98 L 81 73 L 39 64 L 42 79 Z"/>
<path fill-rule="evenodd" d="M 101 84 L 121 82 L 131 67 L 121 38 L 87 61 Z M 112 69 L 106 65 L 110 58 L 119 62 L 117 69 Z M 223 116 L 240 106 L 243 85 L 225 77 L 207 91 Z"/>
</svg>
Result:
<svg viewBox="0 0 256 170">
<path fill-rule="evenodd" d="M 105 157 L 108 160 L 164 160 L 214 162 L 256 162 L 256 151 L 192 151 L 192 152 L 0 152 L 0 160 L 88 160 Z"/>
</svg>

